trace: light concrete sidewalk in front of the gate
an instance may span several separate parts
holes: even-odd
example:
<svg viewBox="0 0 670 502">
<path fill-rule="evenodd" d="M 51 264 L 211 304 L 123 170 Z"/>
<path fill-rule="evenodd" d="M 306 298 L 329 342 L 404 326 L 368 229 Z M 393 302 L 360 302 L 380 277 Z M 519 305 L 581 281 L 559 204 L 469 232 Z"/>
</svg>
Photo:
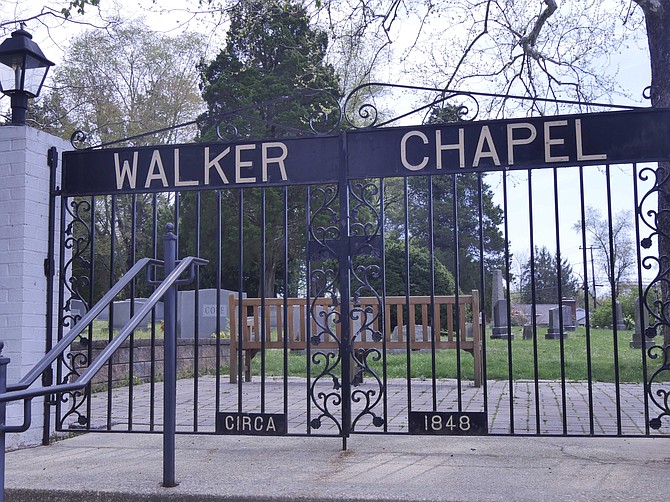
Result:
<svg viewBox="0 0 670 502">
<path fill-rule="evenodd" d="M 86 434 L 7 455 L 7 501 L 667 500 L 664 438 Z"/>
</svg>

